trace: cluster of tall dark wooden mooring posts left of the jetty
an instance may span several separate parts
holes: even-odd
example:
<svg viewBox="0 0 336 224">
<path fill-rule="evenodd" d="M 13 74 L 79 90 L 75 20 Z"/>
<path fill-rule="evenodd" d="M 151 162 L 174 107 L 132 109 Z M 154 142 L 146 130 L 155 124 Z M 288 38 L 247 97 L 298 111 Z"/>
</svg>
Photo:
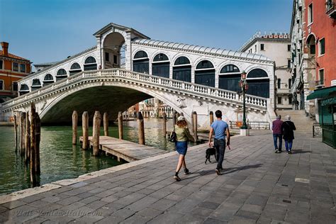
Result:
<svg viewBox="0 0 336 224">
<path fill-rule="evenodd" d="M 36 186 L 38 175 L 40 175 L 40 139 L 41 139 L 40 116 L 31 103 L 30 111 L 16 112 L 14 114 L 15 147 L 19 149 L 21 157 L 24 157 L 26 167 L 30 167 L 30 182 Z"/>
</svg>

